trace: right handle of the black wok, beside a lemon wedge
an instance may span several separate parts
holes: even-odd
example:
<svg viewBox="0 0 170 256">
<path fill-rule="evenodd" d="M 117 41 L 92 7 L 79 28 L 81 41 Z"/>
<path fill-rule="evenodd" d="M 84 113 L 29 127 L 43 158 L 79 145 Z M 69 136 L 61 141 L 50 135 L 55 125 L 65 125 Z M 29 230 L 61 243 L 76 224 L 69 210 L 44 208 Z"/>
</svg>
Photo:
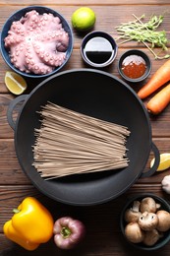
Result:
<svg viewBox="0 0 170 256">
<path fill-rule="evenodd" d="M 154 164 L 148 171 L 142 172 L 142 175 L 141 175 L 142 178 L 150 177 L 152 174 L 154 174 L 160 162 L 159 150 L 157 149 L 156 145 L 153 142 L 151 145 L 151 150 L 154 153 L 154 157 L 155 157 Z"/>
</svg>

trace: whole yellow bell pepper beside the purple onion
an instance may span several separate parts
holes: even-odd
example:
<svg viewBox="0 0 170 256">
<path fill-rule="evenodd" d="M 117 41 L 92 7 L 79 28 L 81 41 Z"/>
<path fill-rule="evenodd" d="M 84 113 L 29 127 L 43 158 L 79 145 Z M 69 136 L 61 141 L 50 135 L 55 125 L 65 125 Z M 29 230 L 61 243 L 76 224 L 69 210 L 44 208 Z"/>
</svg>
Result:
<svg viewBox="0 0 170 256">
<path fill-rule="evenodd" d="M 5 235 L 25 249 L 36 249 L 53 235 L 54 221 L 49 211 L 35 198 L 27 197 L 16 214 L 3 226 Z"/>
</svg>

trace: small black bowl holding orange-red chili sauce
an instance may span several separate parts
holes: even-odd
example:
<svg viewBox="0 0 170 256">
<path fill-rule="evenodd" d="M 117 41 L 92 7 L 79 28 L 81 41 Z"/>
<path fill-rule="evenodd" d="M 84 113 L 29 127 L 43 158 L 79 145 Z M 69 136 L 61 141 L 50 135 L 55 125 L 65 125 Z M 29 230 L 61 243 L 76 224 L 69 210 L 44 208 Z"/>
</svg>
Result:
<svg viewBox="0 0 170 256">
<path fill-rule="evenodd" d="M 138 57 L 142 58 L 145 62 L 145 71 L 144 73 L 142 74 L 142 76 L 139 76 L 137 78 L 133 78 L 132 76 L 131 77 L 128 77 L 125 75 L 122 67 L 123 67 L 123 62 L 125 60 L 125 58 L 129 57 L 129 56 L 132 56 L 132 55 L 137 55 Z M 138 82 L 142 82 L 144 79 L 146 79 L 150 72 L 151 72 L 151 61 L 149 59 L 149 57 L 142 51 L 142 50 L 138 50 L 138 49 L 132 49 L 132 50 L 128 50 L 126 52 L 124 52 L 122 54 L 122 56 L 120 57 L 119 59 L 119 62 L 118 62 L 118 71 L 120 73 L 120 75 L 127 81 L 127 82 L 131 82 L 131 83 L 138 83 Z"/>
</svg>

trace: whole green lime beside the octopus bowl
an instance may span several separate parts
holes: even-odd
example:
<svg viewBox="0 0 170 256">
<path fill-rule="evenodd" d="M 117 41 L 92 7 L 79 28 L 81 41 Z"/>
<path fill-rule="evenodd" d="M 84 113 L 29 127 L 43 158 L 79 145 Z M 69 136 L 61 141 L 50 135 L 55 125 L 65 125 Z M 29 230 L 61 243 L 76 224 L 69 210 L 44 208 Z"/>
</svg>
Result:
<svg viewBox="0 0 170 256">
<path fill-rule="evenodd" d="M 88 7 L 77 9 L 72 15 L 72 25 L 77 31 L 88 31 L 95 24 L 95 14 Z"/>
</svg>

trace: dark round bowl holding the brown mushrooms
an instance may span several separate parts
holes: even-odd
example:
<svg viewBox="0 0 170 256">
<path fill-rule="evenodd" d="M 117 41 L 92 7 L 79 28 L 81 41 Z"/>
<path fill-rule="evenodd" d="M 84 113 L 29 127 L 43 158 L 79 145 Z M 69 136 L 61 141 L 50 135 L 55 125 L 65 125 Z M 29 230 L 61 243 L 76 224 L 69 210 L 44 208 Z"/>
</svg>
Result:
<svg viewBox="0 0 170 256">
<path fill-rule="evenodd" d="M 145 244 L 141 243 L 133 243 L 131 241 L 129 241 L 125 235 L 125 226 L 126 226 L 126 222 L 125 222 L 125 212 L 127 209 L 130 209 L 133 206 L 133 202 L 134 201 L 142 201 L 143 198 L 145 197 L 151 197 L 154 199 L 154 201 L 158 204 L 161 205 L 159 210 L 165 210 L 167 212 L 170 213 L 170 205 L 168 204 L 168 202 L 166 202 L 166 200 L 164 200 L 163 198 L 156 196 L 152 193 L 143 193 L 137 196 L 132 197 L 127 204 L 124 206 L 122 212 L 121 212 L 121 216 L 120 216 L 120 227 L 121 227 L 121 231 L 126 239 L 126 241 L 128 243 L 130 243 L 132 246 L 134 246 L 137 249 L 141 249 L 141 250 L 145 250 L 145 251 L 153 251 L 153 250 L 157 250 L 161 247 L 163 247 L 165 244 L 167 244 L 170 240 L 170 229 L 166 232 L 163 233 L 163 237 L 159 238 L 159 240 L 152 246 L 147 246 Z"/>
</svg>

